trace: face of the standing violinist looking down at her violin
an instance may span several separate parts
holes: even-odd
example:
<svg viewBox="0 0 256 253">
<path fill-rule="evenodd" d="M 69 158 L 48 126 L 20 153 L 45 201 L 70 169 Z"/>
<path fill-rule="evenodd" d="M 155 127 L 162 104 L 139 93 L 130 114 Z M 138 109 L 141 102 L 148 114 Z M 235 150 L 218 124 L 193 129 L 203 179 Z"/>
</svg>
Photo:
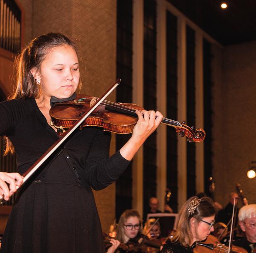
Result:
<svg viewBox="0 0 256 253">
<path fill-rule="evenodd" d="M 52 48 L 37 73 L 44 97 L 70 97 L 76 91 L 80 78 L 76 51 L 67 45 Z"/>
</svg>

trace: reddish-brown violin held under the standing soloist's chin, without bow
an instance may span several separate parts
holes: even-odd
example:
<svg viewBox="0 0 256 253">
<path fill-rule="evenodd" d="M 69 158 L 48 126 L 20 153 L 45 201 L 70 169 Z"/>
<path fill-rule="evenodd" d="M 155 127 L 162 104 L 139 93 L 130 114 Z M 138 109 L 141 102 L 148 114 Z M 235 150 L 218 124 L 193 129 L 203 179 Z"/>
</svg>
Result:
<svg viewBox="0 0 256 253">
<path fill-rule="evenodd" d="M 79 94 L 74 100 L 55 103 L 50 110 L 51 125 L 56 127 L 60 133 L 65 132 L 85 113 L 98 98 Z M 137 123 L 137 110 L 143 107 L 132 103 L 113 103 L 103 100 L 98 107 L 80 124 L 80 129 L 85 126 L 99 126 L 104 131 L 116 134 L 130 134 Z M 172 126 L 181 137 L 186 136 L 189 142 L 200 142 L 205 138 L 205 131 L 201 128 L 181 124 L 178 121 L 163 118 L 162 124 Z"/>
</svg>

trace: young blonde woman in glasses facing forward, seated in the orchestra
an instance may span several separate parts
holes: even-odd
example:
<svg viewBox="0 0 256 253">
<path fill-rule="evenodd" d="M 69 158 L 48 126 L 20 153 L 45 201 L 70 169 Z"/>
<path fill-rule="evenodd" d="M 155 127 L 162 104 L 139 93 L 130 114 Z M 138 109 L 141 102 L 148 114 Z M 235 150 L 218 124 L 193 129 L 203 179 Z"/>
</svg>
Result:
<svg viewBox="0 0 256 253">
<path fill-rule="evenodd" d="M 128 209 L 125 210 L 120 216 L 117 228 L 117 235 L 115 239 L 111 239 L 110 242 L 113 244 L 107 251 L 107 253 L 121 253 L 127 252 L 122 248 L 118 248 L 120 243 L 137 245 L 138 239 L 141 237 L 141 217 L 139 212 L 136 210 Z M 141 251 L 136 251 L 141 252 Z"/>
</svg>

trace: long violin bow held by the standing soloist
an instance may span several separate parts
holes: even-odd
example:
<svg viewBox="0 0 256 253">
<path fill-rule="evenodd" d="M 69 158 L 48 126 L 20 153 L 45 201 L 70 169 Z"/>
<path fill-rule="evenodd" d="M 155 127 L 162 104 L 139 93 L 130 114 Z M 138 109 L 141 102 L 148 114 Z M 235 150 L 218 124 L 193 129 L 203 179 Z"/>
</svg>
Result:
<svg viewBox="0 0 256 253">
<path fill-rule="evenodd" d="M 65 134 L 61 135 L 61 138 L 59 138 L 58 141 L 56 141 L 50 148 L 48 148 L 46 150 L 46 152 L 41 155 L 41 157 L 37 160 L 37 162 L 35 162 L 31 167 L 29 167 L 29 169 L 22 174 L 23 178 L 23 183 L 22 185 L 24 185 L 24 183 L 32 176 L 32 174 L 34 174 L 34 172 L 37 171 L 37 169 L 54 153 L 54 151 L 59 148 L 59 146 L 61 146 L 61 144 L 73 133 L 73 131 L 75 131 L 78 126 L 80 126 L 80 124 L 85 121 L 86 118 L 88 118 L 88 116 L 96 109 L 96 107 L 98 107 L 98 105 L 100 105 L 100 103 L 120 84 L 121 79 L 117 79 L 117 81 L 112 84 L 107 91 L 105 91 L 105 93 L 103 93 L 101 95 L 101 97 L 95 101 L 95 103 L 93 105 L 91 105 L 90 108 L 88 108 L 87 111 L 85 111 L 85 113 L 73 124 L 73 126 L 71 126 L 70 129 L 68 129 L 68 131 L 65 132 Z M 21 186 L 16 186 L 16 189 L 20 189 Z M 3 198 L 0 199 L 0 204 L 2 205 L 5 202 L 5 200 Z"/>
</svg>

